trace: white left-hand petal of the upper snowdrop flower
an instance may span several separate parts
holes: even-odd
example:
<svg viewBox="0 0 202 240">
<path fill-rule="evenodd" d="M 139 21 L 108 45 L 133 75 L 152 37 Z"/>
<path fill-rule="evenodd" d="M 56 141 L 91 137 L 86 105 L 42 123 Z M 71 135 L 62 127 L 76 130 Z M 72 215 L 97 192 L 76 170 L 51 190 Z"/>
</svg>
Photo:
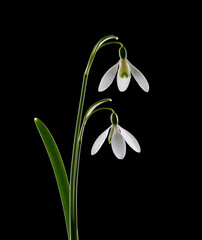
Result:
<svg viewBox="0 0 202 240">
<path fill-rule="evenodd" d="M 119 66 L 119 62 L 116 63 L 113 67 L 111 67 L 102 77 L 98 87 L 99 92 L 106 90 L 112 84 L 115 78 L 118 66 Z"/>
</svg>

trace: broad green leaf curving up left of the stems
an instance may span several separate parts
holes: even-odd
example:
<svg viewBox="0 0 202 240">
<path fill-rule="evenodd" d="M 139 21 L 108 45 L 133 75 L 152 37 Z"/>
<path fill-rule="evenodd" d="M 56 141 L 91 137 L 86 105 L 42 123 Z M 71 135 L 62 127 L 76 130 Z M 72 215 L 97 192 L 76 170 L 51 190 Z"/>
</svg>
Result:
<svg viewBox="0 0 202 240">
<path fill-rule="evenodd" d="M 58 147 L 49 132 L 48 128 L 45 124 L 39 120 L 38 118 L 34 119 L 37 129 L 40 133 L 40 136 L 43 140 L 45 145 L 46 151 L 51 161 L 51 165 L 53 167 L 53 171 L 55 174 L 55 178 L 57 181 L 60 198 L 62 201 L 65 221 L 66 221 L 66 228 L 67 234 L 69 235 L 70 230 L 70 223 L 69 223 L 69 181 L 67 178 L 67 173 L 63 164 L 62 157 L 58 150 Z"/>
</svg>

